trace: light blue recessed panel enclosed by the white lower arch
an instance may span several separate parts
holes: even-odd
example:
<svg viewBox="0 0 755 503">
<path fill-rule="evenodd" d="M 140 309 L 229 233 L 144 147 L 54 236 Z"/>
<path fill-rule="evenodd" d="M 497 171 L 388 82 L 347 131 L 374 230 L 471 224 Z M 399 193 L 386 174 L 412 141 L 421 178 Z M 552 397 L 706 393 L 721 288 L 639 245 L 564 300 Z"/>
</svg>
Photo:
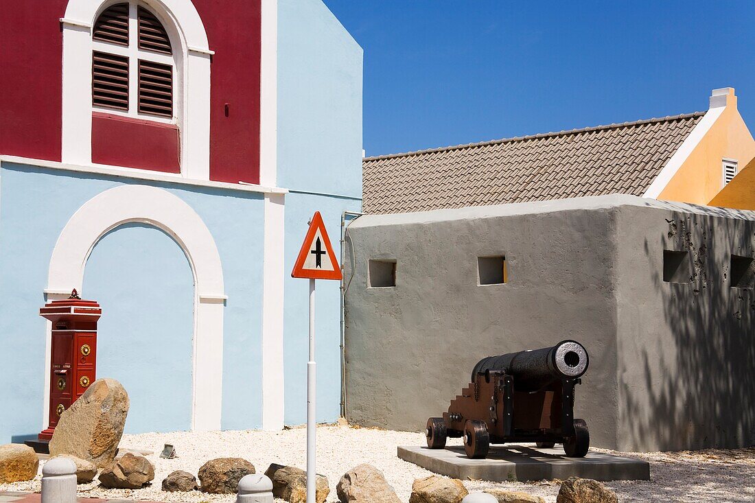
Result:
<svg viewBox="0 0 755 503">
<path fill-rule="evenodd" d="M 126 431 L 189 430 L 194 281 L 183 250 L 156 227 L 124 224 L 94 245 L 82 293 L 105 309 L 97 375 L 128 390 Z"/>
</svg>

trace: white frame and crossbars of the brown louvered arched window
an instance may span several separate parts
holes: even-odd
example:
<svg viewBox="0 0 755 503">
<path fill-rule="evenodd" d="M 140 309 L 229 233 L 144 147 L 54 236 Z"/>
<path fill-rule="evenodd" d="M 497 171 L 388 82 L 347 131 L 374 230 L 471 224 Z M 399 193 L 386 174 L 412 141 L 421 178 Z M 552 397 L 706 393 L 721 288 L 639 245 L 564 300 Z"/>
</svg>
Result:
<svg viewBox="0 0 755 503">
<path fill-rule="evenodd" d="M 176 109 L 178 105 L 178 97 L 181 95 L 179 87 L 180 82 L 177 78 L 178 72 L 175 57 L 174 54 L 146 51 L 139 48 L 139 19 L 137 17 L 139 7 L 146 8 L 147 11 L 154 14 L 160 23 L 163 23 L 163 20 L 160 19 L 158 14 L 153 12 L 153 10 L 144 2 L 139 2 L 139 0 L 119 0 L 116 2 L 116 4 L 123 3 L 128 3 L 128 46 L 95 40 L 93 38 L 92 51 L 128 57 L 128 112 L 116 108 L 109 108 L 108 106 L 95 106 L 94 103 L 92 104 L 92 111 L 175 125 L 177 124 Z M 100 12 L 100 14 L 102 13 Z M 97 21 L 95 20 L 95 22 Z M 165 27 L 165 25 L 163 25 L 163 27 Z M 171 47 L 175 47 L 177 45 L 176 42 L 177 41 L 171 39 Z M 155 116 L 151 113 L 139 112 L 139 60 L 171 66 L 171 73 L 173 74 L 173 116 L 170 119 L 168 119 L 168 117 Z"/>
</svg>

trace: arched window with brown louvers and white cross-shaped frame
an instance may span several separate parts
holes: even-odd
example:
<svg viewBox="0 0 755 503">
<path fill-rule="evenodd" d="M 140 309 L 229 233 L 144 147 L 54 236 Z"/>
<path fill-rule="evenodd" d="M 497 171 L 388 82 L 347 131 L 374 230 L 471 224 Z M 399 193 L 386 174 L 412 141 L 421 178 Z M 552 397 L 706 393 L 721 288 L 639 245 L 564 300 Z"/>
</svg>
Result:
<svg viewBox="0 0 755 503">
<path fill-rule="evenodd" d="M 174 119 L 176 64 L 159 18 L 131 0 L 106 8 L 92 29 L 92 106 Z M 145 118 L 146 118 L 145 117 Z"/>
</svg>

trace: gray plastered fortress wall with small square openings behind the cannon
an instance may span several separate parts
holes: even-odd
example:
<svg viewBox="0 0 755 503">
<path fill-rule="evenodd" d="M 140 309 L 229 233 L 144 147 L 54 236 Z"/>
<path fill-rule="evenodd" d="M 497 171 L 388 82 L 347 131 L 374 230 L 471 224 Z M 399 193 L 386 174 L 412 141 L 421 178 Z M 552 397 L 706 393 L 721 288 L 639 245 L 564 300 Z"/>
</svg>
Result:
<svg viewBox="0 0 755 503">
<path fill-rule="evenodd" d="M 362 216 L 344 264 L 347 418 L 424 430 L 483 356 L 573 338 L 593 446 L 755 443 L 755 297 L 728 270 L 753 242 L 752 212 L 633 196 Z M 687 252 L 686 282 L 664 282 L 664 249 Z M 508 281 L 479 285 L 492 255 Z M 369 287 L 370 260 L 395 261 L 396 285 Z"/>
</svg>

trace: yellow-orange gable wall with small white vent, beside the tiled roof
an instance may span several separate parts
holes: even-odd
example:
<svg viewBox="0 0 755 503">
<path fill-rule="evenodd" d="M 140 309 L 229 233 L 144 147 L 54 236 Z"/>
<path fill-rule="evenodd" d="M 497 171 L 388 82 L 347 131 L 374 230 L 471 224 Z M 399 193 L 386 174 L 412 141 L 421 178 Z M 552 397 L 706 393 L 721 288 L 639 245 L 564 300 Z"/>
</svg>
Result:
<svg viewBox="0 0 755 503">
<path fill-rule="evenodd" d="M 723 189 L 722 160 L 735 159 L 740 174 L 743 174 L 742 168 L 753 157 L 755 140 L 739 115 L 737 97 L 731 89 L 726 96 L 723 113 L 661 190 L 658 199 L 715 205 L 713 199 Z M 740 174 L 737 174 L 735 180 Z M 733 181 L 729 185 L 732 183 Z M 755 185 L 750 187 L 755 188 Z"/>
</svg>

